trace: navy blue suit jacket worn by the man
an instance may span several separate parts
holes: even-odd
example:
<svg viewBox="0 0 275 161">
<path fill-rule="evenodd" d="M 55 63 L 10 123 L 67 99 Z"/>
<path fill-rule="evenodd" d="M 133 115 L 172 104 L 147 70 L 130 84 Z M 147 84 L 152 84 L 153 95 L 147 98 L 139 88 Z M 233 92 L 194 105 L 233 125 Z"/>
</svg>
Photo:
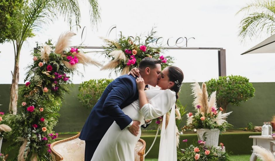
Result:
<svg viewBox="0 0 275 161">
<path fill-rule="evenodd" d="M 130 75 L 119 76 L 104 90 L 87 118 L 79 138 L 81 140 L 102 139 L 111 124 L 125 129 L 132 119 L 121 110 L 138 99 L 135 78 Z"/>
</svg>

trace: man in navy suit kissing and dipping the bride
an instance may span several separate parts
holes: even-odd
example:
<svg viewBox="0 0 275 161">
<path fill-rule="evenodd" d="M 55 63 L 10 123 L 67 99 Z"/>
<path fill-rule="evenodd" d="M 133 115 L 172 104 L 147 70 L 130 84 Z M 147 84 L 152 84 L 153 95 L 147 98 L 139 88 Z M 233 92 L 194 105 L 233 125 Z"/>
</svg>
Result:
<svg viewBox="0 0 275 161">
<path fill-rule="evenodd" d="M 145 84 L 155 87 L 161 72 L 161 61 L 146 57 L 140 61 L 138 69 Z M 92 156 L 111 124 L 116 124 L 121 130 L 128 130 L 135 136 L 139 132 L 139 121 L 132 120 L 121 110 L 138 99 L 135 77 L 131 75 L 119 76 L 104 90 L 98 102 L 94 105 L 87 118 L 79 138 L 85 140 L 85 161 Z"/>
</svg>

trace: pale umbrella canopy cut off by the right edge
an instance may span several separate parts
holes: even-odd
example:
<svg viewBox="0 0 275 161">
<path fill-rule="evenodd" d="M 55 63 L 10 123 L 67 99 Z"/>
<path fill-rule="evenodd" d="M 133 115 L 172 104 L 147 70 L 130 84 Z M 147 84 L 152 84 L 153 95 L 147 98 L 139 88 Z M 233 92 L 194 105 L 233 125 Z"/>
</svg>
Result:
<svg viewBox="0 0 275 161">
<path fill-rule="evenodd" d="M 266 40 L 260 42 L 255 47 L 252 47 L 243 54 L 252 53 L 275 53 L 275 34 L 267 38 Z M 241 55 L 243 55 L 241 54 Z"/>
</svg>

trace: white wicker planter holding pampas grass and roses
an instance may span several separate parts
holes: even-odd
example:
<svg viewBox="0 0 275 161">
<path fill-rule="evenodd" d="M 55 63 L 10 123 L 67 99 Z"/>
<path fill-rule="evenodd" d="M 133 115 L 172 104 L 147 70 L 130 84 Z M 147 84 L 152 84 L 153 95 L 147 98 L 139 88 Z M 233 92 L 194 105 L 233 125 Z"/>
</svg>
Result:
<svg viewBox="0 0 275 161">
<path fill-rule="evenodd" d="M 206 132 L 205 144 L 208 146 L 218 146 L 219 144 L 219 129 L 197 129 L 198 138 L 202 140 L 203 134 Z"/>
</svg>

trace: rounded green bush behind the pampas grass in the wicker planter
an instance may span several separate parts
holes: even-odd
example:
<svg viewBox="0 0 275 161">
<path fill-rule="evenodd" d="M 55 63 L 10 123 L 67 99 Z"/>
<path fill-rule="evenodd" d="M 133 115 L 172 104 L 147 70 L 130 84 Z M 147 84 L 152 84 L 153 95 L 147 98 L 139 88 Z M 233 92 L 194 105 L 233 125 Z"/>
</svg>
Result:
<svg viewBox="0 0 275 161">
<path fill-rule="evenodd" d="M 217 105 L 224 108 L 231 103 L 233 105 L 240 105 L 255 95 L 255 88 L 249 79 L 242 76 L 221 76 L 219 79 L 211 79 L 206 82 L 207 91 L 210 95 L 216 92 Z"/>
</svg>

